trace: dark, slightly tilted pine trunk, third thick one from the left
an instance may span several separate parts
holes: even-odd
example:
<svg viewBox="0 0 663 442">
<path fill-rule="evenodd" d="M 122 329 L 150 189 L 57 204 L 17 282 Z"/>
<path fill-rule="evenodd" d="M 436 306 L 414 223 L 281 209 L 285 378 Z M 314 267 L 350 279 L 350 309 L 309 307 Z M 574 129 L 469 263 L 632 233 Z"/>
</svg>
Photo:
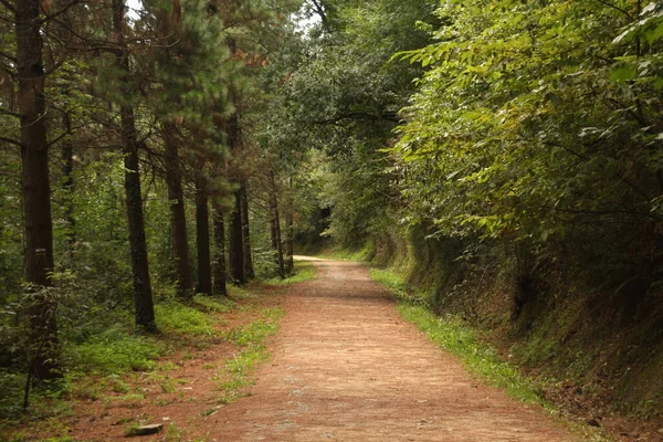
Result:
<svg viewBox="0 0 663 442">
<path fill-rule="evenodd" d="M 191 261 L 189 260 L 189 239 L 187 236 L 187 214 L 185 212 L 185 194 L 182 175 L 179 164 L 175 126 L 164 124 L 164 146 L 166 164 L 166 183 L 170 206 L 170 234 L 172 239 L 172 259 L 177 270 L 177 295 L 182 299 L 191 299 L 193 284 L 191 281 Z"/>
</svg>

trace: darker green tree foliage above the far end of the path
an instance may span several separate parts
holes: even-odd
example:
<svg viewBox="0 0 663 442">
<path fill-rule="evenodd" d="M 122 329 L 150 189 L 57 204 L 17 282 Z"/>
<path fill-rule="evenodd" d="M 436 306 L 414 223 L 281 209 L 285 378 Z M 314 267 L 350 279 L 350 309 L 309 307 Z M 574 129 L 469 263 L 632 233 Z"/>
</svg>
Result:
<svg viewBox="0 0 663 442">
<path fill-rule="evenodd" d="M 273 98 L 262 137 L 291 162 L 313 166 L 297 177 L 298 188 L 311 182 L 317 189 L 308 201 L 332 208 L 326 235 L 350 245 L 391 222 L 388 160 L 378 150 L 392 138 L 421 69 L 389 59 L 424 44 L 427 32 L 415 24 L 435 19 L 428 1 L 324 4 L 319 28 L 287 40 L 290 50 L 267 70 Z M 327 161 L 302 155 L 311 146 L 326 152 Z"/>
</svg>

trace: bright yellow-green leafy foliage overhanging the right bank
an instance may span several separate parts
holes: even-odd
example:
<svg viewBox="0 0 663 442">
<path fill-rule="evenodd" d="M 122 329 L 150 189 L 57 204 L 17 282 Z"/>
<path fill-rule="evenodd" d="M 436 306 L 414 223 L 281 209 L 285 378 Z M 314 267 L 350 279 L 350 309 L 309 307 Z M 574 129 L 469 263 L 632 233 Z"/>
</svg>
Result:
<svg viewBox="0 0 663 442">
<path fill-rule="evenodd" d="M 575 264 L 615 283 L 615 267 L 649 259 L 629 249 L 656 241 L 660 93 L 651 77 L 625 82 L 632 57 L 619 55 L 659 49 L 612 43 L 638 15 L 623 3 L 442 3 L 436 42 L 400 55 L 428 69 L 391 149 L 406 222 L 524 241 L 546 259 L 564 243 L 585 261 Z"/>
</svg>

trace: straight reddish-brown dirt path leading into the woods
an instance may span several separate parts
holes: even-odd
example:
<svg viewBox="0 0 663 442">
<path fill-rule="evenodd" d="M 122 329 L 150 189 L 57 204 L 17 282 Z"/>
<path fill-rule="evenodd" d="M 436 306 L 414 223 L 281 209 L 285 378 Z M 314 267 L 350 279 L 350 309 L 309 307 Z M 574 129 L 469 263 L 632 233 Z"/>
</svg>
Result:
<svg viewBox="0 0 663 442">
<path fill-rule="evenodd" d="M 193 431 L 209 441 L 575 441 L 537 407 L 482 386 L 354 263 L 316 261 L 285 301 L 251 396 Z M 196 434 L 198 433 L 198 434 Z"/>
</svg>

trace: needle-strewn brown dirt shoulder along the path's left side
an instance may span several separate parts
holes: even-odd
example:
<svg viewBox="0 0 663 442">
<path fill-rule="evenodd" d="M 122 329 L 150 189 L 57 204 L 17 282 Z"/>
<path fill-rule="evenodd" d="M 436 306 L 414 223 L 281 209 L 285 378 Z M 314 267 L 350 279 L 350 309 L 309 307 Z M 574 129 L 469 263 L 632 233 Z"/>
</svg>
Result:
<svg viewBox="0 0 663 442">
<path fill-rule="evenodd" d="M 262 290 L 259 296 L 240 301 L 239 309 L 221 314 L 219 328 L 248 325 L 260 318 L 263 308 L 281 306 L 283 288 L 271 288 L 274 290 Z M 71 428 L 69 435 L 85 442 L 125 441 L 127 428 L 137 423 L 162 423 L 166 429 L 157 435 L 136 438 L 140 442 L 188 441 L 188 434 L 198 425 L 213 431 L 208 418 L 222 408 L 219 372 L 241 348 L 219 337 L 201 337 L 180 345 L 160 361 L 160 369 L 126 376 L 128 391 L 109 391 L 105 387 L 101 400 L 80 402 L 76 417 L 66 422 Z"/>
</svg>

